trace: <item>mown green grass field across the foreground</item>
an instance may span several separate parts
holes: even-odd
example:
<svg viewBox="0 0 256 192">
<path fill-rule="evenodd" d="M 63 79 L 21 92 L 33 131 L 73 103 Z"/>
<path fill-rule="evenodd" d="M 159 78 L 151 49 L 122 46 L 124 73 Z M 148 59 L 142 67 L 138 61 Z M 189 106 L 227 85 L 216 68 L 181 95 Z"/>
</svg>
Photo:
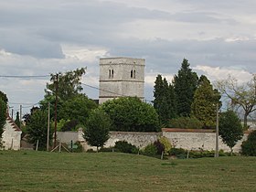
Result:
<svg viewBox="0 0 256 192">
<path fill-rule="evenodd" d="M 0 191 L 256 191 L 256 157 L 0 152 Z"/>
</svg>

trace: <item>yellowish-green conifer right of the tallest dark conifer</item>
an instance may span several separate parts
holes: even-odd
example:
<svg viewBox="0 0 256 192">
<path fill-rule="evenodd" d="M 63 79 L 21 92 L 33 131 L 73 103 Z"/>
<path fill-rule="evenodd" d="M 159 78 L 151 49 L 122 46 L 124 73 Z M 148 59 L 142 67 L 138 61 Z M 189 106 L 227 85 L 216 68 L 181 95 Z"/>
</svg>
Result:
<svg viewBox="0 0 256 192">
<path fill-rule="evenodd" d="M 191 114 L 203 123 L 204 128 L 216 126 L 217 103 L 220 107 L 220 97 L 219 91 L 214 90 L 208 78 L 202 75 L 191 105 Z"/>
</svg>

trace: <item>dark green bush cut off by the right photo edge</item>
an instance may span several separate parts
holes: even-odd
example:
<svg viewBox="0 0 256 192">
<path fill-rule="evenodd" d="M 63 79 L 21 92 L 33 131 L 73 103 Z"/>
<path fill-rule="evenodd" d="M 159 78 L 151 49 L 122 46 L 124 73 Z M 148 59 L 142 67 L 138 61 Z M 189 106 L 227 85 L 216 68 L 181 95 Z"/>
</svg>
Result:
<svg viewBox="0 0 256 192">
<path fill-rule="evenodd" d="M 251 132 L 247 140 L 241 144 L 241 154 L 256 156 L 256 131 Z"/>
</svg>

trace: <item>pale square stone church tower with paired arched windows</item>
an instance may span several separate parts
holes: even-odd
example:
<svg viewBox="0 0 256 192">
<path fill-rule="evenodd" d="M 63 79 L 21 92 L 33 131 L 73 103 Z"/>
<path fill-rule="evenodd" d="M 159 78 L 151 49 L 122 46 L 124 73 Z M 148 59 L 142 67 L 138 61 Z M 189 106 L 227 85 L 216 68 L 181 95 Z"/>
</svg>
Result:
<svg viewBox="0 0 256 192">
<path fill-rule="evenodd" d="M 99 103 L 124 96 L 144 99 L 144 59 L 100 59 Z"/>
</svg>

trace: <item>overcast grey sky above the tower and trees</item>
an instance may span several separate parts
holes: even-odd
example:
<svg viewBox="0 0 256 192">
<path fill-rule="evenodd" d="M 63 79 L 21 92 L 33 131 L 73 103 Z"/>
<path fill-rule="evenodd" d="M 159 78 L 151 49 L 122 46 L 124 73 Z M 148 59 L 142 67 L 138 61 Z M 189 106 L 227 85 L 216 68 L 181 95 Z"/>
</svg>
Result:
<svg viewBox="0 0 256 192">
<path fill-rule="evenodd" d="M 87 67 L 82 82 L 99 87 L 100 58 L 142 58 L 144 96 L 152 100 L 156 75 L 172 80 L 186 58 L 212 82 L 228 74 L 248 81 L 256 70 L 255 7 L 254 0 L 1 1 L 0 76 Z M 15 109 L 28 109 L 47 82 L 0 77 L 0 91 Z"/>
</svg>

